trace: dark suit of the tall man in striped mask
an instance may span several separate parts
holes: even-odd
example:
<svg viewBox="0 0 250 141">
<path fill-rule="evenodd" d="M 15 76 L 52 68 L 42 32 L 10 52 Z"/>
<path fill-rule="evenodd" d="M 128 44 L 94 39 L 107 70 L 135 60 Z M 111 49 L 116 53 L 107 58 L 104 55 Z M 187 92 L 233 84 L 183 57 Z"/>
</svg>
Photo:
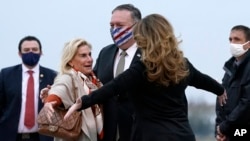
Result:
<svg viewBox="0 0 250 141">
<path fill-rule="evenodd" d="M 94 73 L 103 84 L 114 78 L 114 61 L 118 47 L 114 44 L 104 47 L 97 58 Z M 138 61 L 141 57 L 140 50 L 137 49 L 131 62 Z M 119 124 L 120 141 L 128 141 L 130 138 L 134 108 L 127 96 L 120 96 L 109 99 L 103 103 L 104 111 L 104 141 L 114 141 Z"/>
</svg>

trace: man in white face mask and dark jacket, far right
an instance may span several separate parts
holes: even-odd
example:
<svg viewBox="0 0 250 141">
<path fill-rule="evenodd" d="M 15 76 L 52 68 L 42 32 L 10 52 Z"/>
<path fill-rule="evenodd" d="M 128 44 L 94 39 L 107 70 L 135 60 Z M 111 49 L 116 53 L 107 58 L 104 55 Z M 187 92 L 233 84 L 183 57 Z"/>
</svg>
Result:
<svg viewBox="0 0 250 141">
<path fill-rule="evenodd" d="M 222 84 L 228 100 L 224 106 L 216 103 L 217 141 L 244 141 L 250 137 L 250 29 L 237 25 L 231 29 L 230 52 Z"/>
</svg>

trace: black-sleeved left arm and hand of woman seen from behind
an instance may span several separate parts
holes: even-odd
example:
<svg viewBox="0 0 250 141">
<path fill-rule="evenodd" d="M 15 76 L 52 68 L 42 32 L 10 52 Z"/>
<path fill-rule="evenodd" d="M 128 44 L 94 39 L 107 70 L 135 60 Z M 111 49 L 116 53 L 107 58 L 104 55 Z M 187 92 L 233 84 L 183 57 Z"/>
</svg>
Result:
<svg viewBox="0 0 250 141">
<path fill-rule="evenodd" d="M 133 67 L 127 69 L 125 72 L 121 73 L 112 81 L 108 82 L 101 88 L 93 91 L 89 95 L 84 95 L 81 100 L 77 100 L 77 104 L 72 107 L 70 115 L 73 111 L 86 109 L 94 104 L 102 103 L 103 101 L 109 99 L 115 95 L 125 94 L 128 90 L 134 90 L 138 88 L 144 81 L 147 81 L 144 77 L 145 66 L 142 62 L 135 63 Z"/>
</svg>

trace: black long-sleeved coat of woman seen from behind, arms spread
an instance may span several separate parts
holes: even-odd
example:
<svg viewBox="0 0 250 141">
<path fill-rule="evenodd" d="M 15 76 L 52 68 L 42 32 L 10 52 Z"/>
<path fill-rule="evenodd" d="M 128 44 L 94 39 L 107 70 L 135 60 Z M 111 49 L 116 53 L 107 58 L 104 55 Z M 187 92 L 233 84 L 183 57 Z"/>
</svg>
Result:
<svg viewBox="0 0 250 141">
<path fill-rule="evenodd" d="M 141 61 L 113 81 L 82 97 L 82 109 L 110 97 L 129 92 L 135 106 L 132 141 L 195 141 L 188 122 L 185 89 L 194 86 L 222 95 L 224 88 L 188 63 L 190 74 L 177 85 L 165 87 L 149 82 Z"/>
</svg>

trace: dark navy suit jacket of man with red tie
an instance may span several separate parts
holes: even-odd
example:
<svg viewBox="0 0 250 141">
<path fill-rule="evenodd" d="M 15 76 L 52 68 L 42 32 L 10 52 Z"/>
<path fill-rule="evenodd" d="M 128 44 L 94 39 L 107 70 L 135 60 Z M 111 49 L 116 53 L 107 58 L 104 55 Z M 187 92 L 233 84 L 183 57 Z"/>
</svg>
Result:
<svg viewBox="0 0 250 141">
<path fill-rule="evenodd" d="M 40 66 L 39 91 L 54 82 L 56 72 Z M 0 72 L 0 139 L 15 141 L 22 103 L 22 65 L 4 68 Z M 39 98 L 39 110 L 43 103 Z M 53 138 L 40 135 L 40 141 Z"/>
</svg>

